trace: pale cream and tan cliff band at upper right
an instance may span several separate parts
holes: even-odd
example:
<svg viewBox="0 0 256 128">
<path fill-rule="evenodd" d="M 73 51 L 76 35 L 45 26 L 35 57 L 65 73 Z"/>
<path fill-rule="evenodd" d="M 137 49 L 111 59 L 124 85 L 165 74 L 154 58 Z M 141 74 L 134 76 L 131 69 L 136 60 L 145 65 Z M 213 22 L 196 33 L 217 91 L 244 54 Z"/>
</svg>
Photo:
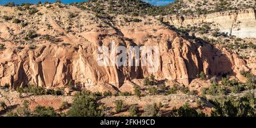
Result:
<svg viewBox="0 0 256 128">
<path fill-rule="evenodd" d="M 256 14 L 255 9 L 239 11 L 227 11 L 224 13 L 213 13 L 197 16 L 164 16 L 164 22 L 176 27 L 187 25 L 199 25 L 201 23 L 213 23 L 221 32 L 235 35 L 239 38 L 256 38 Z"/>
</svg>

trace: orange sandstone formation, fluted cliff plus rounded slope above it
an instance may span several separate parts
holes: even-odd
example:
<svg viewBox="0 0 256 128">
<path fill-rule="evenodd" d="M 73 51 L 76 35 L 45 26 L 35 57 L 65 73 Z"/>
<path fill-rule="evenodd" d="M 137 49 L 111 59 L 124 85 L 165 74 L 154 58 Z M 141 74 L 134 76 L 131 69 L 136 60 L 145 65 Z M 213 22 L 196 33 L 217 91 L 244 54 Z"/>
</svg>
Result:
<svg viewBox="0 0 256 128">
<path fill-rule="evenodd" d="M 7 10 L 1 11 L 3 15 L 6 15 L 5 12 L 13 15 L 18 13 L 8 7 L 3 9 Z M 98 65 L 98 47 L 110 47 L 110 42 L 115 42 L 115 47 L 126 48 L 158 46 L 159 60 L 155 63 L 159 63 L 159 70 L 153 73 L 157 80 L 176 80 L 188 85 L 201 71 L 209 76 L 232 74 L 243 80 L 240 71 L 248 71 L 245 62 L 228 49 L 180 38 L 171 28 L 150 16 L 138 17 L 142 20 L 139 23 L 125 23 L 122 21 L 123 15 L 109 22 L 75 7 L 60 9 L 55 6 L 51 11 L 39 7 L 39 11 L 44 14 L 42 17 L 23 16 L 22 20 L 39 21 L 24 28 L 2 21 L 5 29 L 1 30 L 0 43 L 5 44 L 6 49 L 0 51 L 1 85 L 10 84 L 16 88 L 32 84 L 55 88 L 72 81 L 83 86 L 110 84 L 120 87 L 127 80 L 143 79 L 151 75 L 148 69 L 156 65 Z M 79 15 L 70 20 L 70 11 Z M 47 24 L 51 24 L 48 29 Z M 8 31 L 6 26 L 10 28 Z M 31 29 L 39 36 L 23 40 Z M 46 40 L 46 34 L 60 41 Z M 31 48 L 31 44 L 35 49 Z M 139 61 L 143 61 L 141 56 Z"/>
</svg>

